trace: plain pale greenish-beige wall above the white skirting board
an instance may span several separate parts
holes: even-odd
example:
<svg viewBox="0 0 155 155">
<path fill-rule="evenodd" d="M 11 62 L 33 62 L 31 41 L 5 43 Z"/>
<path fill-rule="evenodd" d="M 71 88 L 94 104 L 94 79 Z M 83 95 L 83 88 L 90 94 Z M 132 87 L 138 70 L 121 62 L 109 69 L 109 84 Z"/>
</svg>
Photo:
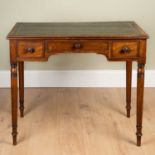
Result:
<svg viewBox="0 0 155 155">
<path fill-rule="evenodd" d="M 134 20 L 150 35 L 147 68 L 155 68 L 154 0 L 0 0 L 0 69 L 9 69 L 6 35 L 16 22 Z M 80 62 L 80 63 L 79 63 Z M 27 69 L 122 69 L 95 54 L 69 54 L 47 63 L 27 63 Z"/>
</svg>

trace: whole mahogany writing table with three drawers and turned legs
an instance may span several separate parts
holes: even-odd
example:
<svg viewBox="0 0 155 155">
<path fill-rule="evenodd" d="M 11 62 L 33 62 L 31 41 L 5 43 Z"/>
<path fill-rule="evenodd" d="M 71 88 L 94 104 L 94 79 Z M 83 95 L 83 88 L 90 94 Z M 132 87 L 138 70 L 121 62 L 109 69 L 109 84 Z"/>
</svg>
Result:
<svg viewBox="0 0 155 155">
<path fill-rule="evenodd" d="M 97 53 L 126 62 L 126 110 L 130 117 L 132 61 L 137 61 L 137 145 L 141 145 L 144 66 L 148 35 L 135 22 L 17 23 L 10 41 L 13 144 L 17 143 L 18 76 L 24 115 L 24 61 L 47 61 L 57 53 Z"/>
</svg>

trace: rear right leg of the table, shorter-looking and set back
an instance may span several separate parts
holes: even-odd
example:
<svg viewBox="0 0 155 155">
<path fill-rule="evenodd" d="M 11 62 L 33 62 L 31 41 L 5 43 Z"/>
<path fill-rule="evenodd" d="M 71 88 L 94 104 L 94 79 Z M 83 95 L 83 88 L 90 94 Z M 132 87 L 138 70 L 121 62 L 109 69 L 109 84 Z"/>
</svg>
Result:
<svg viewBox="0 0 155 155">
<path fill-rule="evenodd" d="M 130 117 L 131 110 L 131 84 L 132 84 L 132 61 L 126 62 L 126 110 Z"/>
</svg>

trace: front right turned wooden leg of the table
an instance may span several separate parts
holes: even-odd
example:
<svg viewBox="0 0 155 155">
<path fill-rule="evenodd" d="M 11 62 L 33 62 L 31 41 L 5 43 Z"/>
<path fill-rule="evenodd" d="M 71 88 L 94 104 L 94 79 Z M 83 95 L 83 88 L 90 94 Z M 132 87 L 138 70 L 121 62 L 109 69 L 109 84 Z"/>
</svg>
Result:
<svg viewBox="0 0 155 155">
<path fill-rule="evenodd" d="M 138 63 L 137 73 L 137 146 L 141 146 L 143 96 L 144 96 L 144 64 Z"/>
</svg>

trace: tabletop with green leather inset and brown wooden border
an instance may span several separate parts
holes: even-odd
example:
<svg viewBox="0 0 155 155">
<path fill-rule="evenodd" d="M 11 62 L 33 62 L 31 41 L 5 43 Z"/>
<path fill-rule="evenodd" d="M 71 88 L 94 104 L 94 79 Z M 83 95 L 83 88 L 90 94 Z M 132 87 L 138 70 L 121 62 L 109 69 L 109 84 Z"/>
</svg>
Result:
<svg viewBox="0 0 155 155">
<path fill-rule="evenodd" d="M 8 39 L 55 37 L 148 38 L 135 22 L 16 23 Z"/>
</svg>

